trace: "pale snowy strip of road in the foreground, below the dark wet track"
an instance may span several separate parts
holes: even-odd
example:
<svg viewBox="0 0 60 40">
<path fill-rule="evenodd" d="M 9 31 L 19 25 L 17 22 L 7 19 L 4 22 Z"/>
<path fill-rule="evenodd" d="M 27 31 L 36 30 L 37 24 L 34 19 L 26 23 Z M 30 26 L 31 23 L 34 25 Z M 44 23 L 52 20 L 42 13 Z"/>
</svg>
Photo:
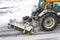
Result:
<svg viewBox="0 0 60 40">
<path fill-rule="evenodd" d="M 0 40 L 60 40 L 60 33 L 6 36 L 0 37 Z"/>
</svg>

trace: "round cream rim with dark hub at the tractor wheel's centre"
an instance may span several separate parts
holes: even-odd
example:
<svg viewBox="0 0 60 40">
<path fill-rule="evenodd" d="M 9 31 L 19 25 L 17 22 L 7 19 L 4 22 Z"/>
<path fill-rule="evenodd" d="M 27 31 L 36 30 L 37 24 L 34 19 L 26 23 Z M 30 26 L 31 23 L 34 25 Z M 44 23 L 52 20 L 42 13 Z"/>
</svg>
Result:
<svg viewBox="0 0 60 40">
<path fill-rule="evenodd" d="M 53 26 L 55 25 L 55 20 L 53 17 L 47 17 L 45 20 L 44 20 L 44 27 L 45 28 L 52 28 Z"/>
</svg>

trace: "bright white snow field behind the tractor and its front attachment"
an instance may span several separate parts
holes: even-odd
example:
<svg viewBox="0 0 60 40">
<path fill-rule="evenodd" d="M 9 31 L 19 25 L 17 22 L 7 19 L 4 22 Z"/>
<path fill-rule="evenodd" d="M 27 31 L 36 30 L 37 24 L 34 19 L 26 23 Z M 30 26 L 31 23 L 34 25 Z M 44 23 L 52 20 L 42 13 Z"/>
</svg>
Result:
<svg viewBox="0 0 60 40">
<path fill-rule="evenodd" d="M 0 13 L 0 27 L 6 26 L 9 19 L 16 19 L 22 21 L 22 17 L 31 16 L 31 9 L 33 5 L 37 5 L 39 0 L 0 0 L 0 11 L 7 12 Z M 4 7 L 8 7 L 3 9 Z"/>
</svg>

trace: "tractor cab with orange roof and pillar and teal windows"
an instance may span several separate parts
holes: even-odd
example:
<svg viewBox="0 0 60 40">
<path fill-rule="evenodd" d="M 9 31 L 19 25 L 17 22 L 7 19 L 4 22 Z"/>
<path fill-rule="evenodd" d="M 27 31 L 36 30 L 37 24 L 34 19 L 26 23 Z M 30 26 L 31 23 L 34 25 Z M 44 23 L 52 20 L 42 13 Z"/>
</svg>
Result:
<svg viewBox="0 0 60 40">
<path fill-rule="evenodd" d="M 60 0 L 39 0 L 38 6 L 43 10 L 51 9 L 60 12 Z"/>
</svg>

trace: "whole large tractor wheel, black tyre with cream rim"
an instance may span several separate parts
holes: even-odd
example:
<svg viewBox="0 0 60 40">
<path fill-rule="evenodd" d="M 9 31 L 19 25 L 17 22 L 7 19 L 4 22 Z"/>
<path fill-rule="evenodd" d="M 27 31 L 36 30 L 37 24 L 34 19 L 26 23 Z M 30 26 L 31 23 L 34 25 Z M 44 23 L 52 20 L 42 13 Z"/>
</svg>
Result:
<svg viewBox="0 0 60 40">
<path fill-rule="evenodd" d="M 39 19 L 40 28 L 45 31 L 52 31 L 57 26 L 57 16 L 53 13 L 43 15 Z"/>
</svg>

